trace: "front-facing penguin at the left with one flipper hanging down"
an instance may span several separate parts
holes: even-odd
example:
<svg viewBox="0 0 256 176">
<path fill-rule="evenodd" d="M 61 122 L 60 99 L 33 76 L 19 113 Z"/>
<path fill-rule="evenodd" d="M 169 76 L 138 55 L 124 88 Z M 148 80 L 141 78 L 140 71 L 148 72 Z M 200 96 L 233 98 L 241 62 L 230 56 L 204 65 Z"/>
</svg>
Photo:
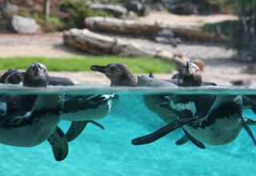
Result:
<svg viewBox="0 0 256 176">
<path fill-rule="evenodd" d="M 40 63 L 31 64 L 23 86 L 46 88 L 49 75 Z M 19 86 L 18 86 L 19 87 Z M 0 142 L 9 146 L 37 146 L 48 140 L 54 158 L 68 154 L 65 134 L 58 128 L 62 96 L 58 94 L 0 94 Z"/>
</svg>

